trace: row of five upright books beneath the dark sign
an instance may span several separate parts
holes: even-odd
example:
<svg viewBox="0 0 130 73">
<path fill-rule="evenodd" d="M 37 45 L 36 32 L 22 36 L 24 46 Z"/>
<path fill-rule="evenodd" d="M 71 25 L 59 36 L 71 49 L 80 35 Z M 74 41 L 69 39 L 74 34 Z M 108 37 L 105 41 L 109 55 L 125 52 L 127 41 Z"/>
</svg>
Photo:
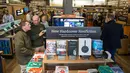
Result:
<svg viewBox="0 0 130 73">
<path fill-rule="evenodd" d="M 78 40 L 47 39 L 46 55 L 76 56 L 102 54 L 103 42 L 100 39 L 79 38 Z"/>
</svg>

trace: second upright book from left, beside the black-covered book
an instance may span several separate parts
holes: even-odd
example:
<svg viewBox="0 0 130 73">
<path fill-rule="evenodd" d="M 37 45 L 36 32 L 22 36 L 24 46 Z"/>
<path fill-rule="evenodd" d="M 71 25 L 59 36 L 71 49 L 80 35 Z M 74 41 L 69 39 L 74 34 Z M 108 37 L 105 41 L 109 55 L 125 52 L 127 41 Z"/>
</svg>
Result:
<svg viewBox="0 0 130 73">
<path fill-rule="evenodd" d="M 66 40 L 57 40 L 57 55 L 66 55 Z"/>
</svg>

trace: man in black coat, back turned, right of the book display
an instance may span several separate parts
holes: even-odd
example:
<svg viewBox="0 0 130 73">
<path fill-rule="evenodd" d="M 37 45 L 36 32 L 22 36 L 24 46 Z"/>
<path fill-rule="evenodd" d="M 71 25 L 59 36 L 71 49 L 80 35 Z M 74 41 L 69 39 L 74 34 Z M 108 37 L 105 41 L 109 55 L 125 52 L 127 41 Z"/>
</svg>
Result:
<svg viewBox="0 0 130 73">
<path fill-rule="evenodd" d="M 115 22 L 113 14 L 108 14 L 102 30 L 101 39 L 103 40 L 104 50 L 111 53 L 113 61 L 115 61 L 114 55 L 117 48 L 121 48 L 120 39 L 122 39 L 123 36 L 122 25 Z"/>
</svg>

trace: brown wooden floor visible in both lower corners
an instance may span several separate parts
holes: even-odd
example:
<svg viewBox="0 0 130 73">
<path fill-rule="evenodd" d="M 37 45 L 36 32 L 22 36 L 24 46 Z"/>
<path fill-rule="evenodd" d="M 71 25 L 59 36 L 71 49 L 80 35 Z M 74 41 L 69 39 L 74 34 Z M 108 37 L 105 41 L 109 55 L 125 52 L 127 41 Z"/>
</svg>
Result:
<svg viewBox="0 0 130 73">
<path fill-rule="evenodd" d="M 130 73 L 130 55 L 117 55 L 116 61 L 123 69 L 124 73 Z M 6 59 L 6 73 L 20 73 L 20 67 L 16 58 Z"/>
</svg>

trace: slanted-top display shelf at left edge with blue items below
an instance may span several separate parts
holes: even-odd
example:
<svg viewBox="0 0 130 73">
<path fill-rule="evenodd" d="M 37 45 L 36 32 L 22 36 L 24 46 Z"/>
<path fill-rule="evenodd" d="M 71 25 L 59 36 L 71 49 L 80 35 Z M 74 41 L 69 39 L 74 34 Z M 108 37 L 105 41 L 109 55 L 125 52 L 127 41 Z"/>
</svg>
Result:
<svg viewBox="0 0 130 73">
<path fill-rule="evenodd" d="M 20 22 L 21 20 L 15 20 L 0 26 L 0 51 L 3 51 L 3 56 L 13 56 L 15 52 L 14 33 L 19 28 Z"/>
</svg>

